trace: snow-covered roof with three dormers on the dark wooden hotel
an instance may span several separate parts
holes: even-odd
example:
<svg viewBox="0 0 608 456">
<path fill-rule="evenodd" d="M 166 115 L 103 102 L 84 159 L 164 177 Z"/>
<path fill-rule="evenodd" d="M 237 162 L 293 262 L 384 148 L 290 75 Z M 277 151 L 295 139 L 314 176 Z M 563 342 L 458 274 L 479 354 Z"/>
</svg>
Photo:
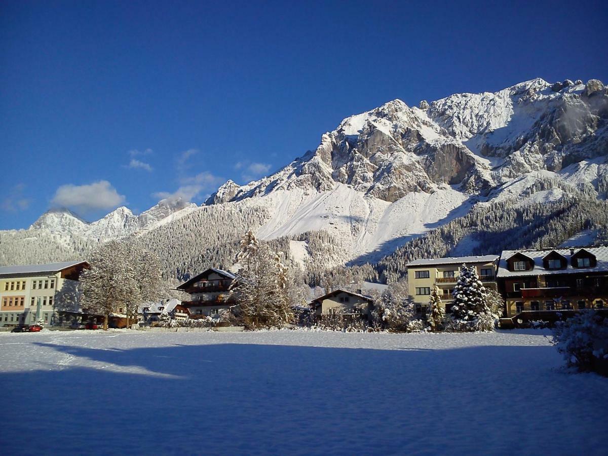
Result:
<svg viewBox="0 0 608 456">
<path fill-rule="evenodd" d="M 597 264 L 595 268 L 573 268 L 571 258 L 580 250 L 585 250 L 592 255 L 595 255 Z M 566 258 L 568 266 L 565 269 L 545 269 L 543 266 L 543 258 L 550 252 L 558 252 Z M 520 253 L 534 261 L 534 268 L 530 271 L 509 271 L 506 260 L 513 255 Z M 498 272 L 496 277 L 523 277 L 527 275 L 545 275 L 545 274 L 572 274 L 575 272 L 606 272 L 608 271 L 608 246 L 599 247 L 572 247 L 570 249 L 544 249 L 544 250 L 505 250 L 500 255 Z"/>
</svg>

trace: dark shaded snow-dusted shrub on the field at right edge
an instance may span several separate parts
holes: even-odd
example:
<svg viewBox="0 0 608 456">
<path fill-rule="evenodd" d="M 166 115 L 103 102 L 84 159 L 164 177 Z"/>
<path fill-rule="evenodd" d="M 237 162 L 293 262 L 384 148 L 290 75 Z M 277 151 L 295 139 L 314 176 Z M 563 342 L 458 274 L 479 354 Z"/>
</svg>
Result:
<svg viewBox="0 0 608 456">
<path fill-rule="evenodd" d="M 608 318 L 592 309 L 556 323 L 553 334 L 553 344 L 569 366 L 590 371 L 608 363 Z"/>
</svg>

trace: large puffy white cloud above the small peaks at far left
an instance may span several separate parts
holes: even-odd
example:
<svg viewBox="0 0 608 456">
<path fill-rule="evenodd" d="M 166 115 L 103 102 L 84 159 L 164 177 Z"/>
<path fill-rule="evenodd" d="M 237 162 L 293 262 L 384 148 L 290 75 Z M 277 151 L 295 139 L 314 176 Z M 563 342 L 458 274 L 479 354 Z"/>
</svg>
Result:
<svg viewBox="0 0 608 456">
<path fill-rule="evenodd" d="M 54 206 L 75 209 L 87 213 L 98 209 L 112 209 L 125 202 L 108 181 L 98 181 L 87 185 L 61 185 L 51 200 Z"/>
</svg>

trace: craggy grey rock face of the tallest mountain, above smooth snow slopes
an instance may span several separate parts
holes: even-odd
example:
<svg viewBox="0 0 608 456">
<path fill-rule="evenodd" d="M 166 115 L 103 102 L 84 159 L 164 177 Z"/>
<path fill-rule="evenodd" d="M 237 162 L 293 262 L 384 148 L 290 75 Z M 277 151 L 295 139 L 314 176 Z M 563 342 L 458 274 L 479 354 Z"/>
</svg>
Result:
<svg viewBox="0 0 608 456">
<path fill-rule="evenodd" d="M 483 195 L 522 173 L 558 171 L 606 154 L 603 90 L 597 80 L 582 90 L 578 81 L 534 79 L 494 93 L 423 101 L 420 108 L 393 100 L 347 117 L 314 152 L 268 178 L 226 182 L 207 204 L 293 187 L 324 192 L 337 183 L 389 202 L 445 185 Z"/>
</svg>

